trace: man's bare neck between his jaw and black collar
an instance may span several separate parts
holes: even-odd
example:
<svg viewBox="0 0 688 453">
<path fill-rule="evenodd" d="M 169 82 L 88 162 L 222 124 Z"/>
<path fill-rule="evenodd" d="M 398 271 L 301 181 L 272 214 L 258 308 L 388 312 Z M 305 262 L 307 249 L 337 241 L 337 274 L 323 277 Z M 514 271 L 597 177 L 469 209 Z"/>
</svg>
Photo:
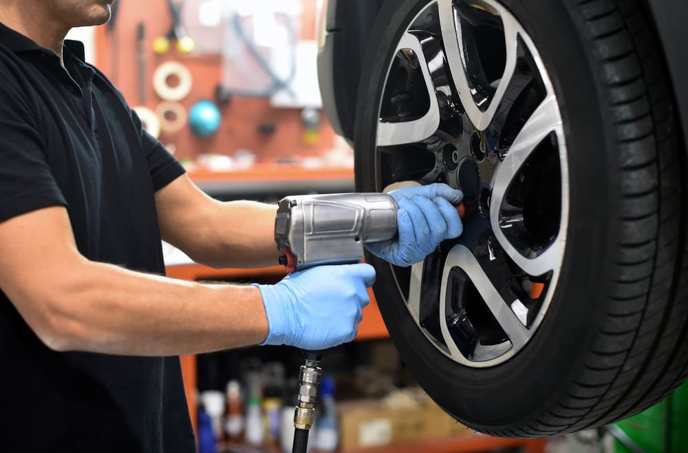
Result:
<svg viewBox="0 0 688 453">
<path fill-rule="evenodd" d="M 0 22 L 23 34 L 43 48 L 54 50 L 62 62 L 62 48 L 69 28 L 50 18 L 44 1 L 0 2 Z"/>
</svg>

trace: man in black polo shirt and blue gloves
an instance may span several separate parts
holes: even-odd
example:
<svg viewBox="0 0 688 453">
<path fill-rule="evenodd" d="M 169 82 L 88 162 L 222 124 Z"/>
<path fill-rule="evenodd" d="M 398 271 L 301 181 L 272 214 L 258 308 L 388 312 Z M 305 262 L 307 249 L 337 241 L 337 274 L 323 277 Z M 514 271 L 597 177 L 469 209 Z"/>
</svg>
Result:
<svg viewBox="0 0 688 453">
<path fill-rule="evenodd" d="M 368 264 L 275 285 L 162 277 L 161 238 L 196 262 L 277 263 L 275 206 L 217 202 L 83 61 L 70 28 L 108 0 L 0 0 L 0 450 L 193 452 L 178 356 L 356 335 Z M 446 185 L 394 192 L 409 266 L 462 225 Z"/>
</svg>

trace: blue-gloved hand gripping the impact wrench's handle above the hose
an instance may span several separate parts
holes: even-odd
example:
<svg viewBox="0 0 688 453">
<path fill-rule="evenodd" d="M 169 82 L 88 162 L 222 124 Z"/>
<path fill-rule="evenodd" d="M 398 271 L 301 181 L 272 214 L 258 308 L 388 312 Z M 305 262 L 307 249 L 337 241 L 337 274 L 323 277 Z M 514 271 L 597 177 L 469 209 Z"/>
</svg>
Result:
<svg viewBox="0 0 688 453">
<path fill-rule="evenodd" d="M 366 287 L 373 282 L 372 266 L 346 264 L 294 272 L 275 285 L 254 284 L 263 296 L 270 330 L 261 346 L 314 350 L 351 341 L 370 302 Z"/>
</svg>

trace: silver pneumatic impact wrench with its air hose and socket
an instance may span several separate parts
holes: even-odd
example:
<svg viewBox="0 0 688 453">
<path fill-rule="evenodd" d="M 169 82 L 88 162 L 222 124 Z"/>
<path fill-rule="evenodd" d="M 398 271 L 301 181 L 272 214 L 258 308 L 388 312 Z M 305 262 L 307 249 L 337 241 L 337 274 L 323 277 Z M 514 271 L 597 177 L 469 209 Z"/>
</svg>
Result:
<svg viewBox="0 0 688 453">
<path fill-rule="evenodd" d="M 464 216 L 463 203 L 456 206 Z M 275 218 L 275 242 L 288 272 L 326 264 L 354 264 L 363 244 L 394 238 L 396 200 L 387 193 L 333 193 L 283 198 Z M 299 372 L 299 405 L 294 408 L 292 453 L 305 453 L 315 417 L 315 401 L 327 350 L 305 351 Z"/>
</svg>

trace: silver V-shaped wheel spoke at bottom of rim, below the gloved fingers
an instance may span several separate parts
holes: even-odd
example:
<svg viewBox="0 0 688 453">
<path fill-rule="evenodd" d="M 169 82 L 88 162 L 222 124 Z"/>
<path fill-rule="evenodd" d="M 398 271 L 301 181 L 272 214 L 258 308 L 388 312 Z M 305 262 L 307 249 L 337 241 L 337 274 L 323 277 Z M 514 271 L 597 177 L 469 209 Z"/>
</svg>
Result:
<svg viewBox="0 0 688 453">
<path fill-rule="evenodd" d="M 469 276 L 473 285 L 480 293 L 481 297 L 487 304 L 490 312 L 493 314 L 499 326 L 504 329 L 506 335 L 508 335 L 511 344 L 515 350 L 519 350 L 526 344 L 526 341 L 530 338 L 530 330 L 528 330 L 517 315 L 513 313 L 509 305 L 504 302 L 502 296 L 495 286 L 490 281 L 489 277 L 485 274 L 477 262 L 473 253 L 462 245 L 454 246 L 449 255 L 447 255 L 447 261 L 444 263 L 444 271 L 442 273 L 442 287 L 440 289 L 440 304 L 444 304 L 447 299 L 447 283 L 449 280 L 449 271 L 454 266 L 462 268 L 462 270 Z M 451 334 L 449 333 L 449 326 L 447 326 L 447 319 L 444 316 L 445 310 L 444 306 L 440 308 L 440 328 L 442 329 L 442 337 L 444 337 L 445 343 L 449 348 L 449 352 L 452 357 L 460 358 L 463 357 L 457 346 L 455 345 Z M 468 359 L 464 357 L 464 359 Z"/>
</svg>

